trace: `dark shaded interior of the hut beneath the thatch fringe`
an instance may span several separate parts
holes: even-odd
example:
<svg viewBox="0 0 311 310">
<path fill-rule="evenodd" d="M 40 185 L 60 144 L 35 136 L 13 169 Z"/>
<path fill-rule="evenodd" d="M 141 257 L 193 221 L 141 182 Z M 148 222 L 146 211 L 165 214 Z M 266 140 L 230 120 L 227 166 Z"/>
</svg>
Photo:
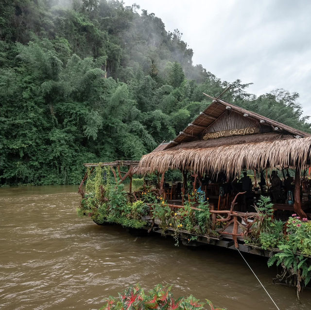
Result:
<svg viewBox="0 0 311 310">
<path fill-rule="evenodd" d="M 299 172 L 300 202 L 302 210 L 311 207 L 311 168 Z M 295 170 L 263 169 L 241 171 L 238 176 L 228 177 L 225 171 L 218 174 L 196 174 L 183 172 L 182 178 L 163 182 L 165 199 L 172 204 L 183 204 L 189 201 L 192 193 L 202 200 L 208 200 L 213 210 L 229 210 L 231 202 L 238 193 L 234 210 L 238 212 L 256 212 L 260 196 L 269 196 L 274 204 L 276 218 L 286 219 L 294 212 L 295 202 Z M 168 178 L 172 179 L 172 178 Z M 297 192 L 296 192 L 297 195 Z"/>
</svg>

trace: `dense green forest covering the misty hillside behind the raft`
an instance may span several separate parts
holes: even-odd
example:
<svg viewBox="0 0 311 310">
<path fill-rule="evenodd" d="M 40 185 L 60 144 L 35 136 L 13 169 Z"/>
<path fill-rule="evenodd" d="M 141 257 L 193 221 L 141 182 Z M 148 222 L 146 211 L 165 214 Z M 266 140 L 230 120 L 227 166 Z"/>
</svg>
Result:
<svg viewBox="0 0 311 310">
<path fill-rule="evenodd" d="M 177 29 L 117 0 L 1 0 L 0 37 L 0 185 L 75 184 L 82 163 L 138 160 L 229 84 L 192 64 Z M 297 93 L 232 84 L 224 99 L 311 131 Z"/>
</svg>

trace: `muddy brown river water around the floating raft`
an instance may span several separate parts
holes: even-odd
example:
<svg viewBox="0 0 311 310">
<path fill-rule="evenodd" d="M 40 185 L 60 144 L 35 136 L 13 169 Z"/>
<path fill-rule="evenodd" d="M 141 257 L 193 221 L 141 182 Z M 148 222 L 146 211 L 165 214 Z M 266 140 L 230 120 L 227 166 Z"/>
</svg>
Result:
<svg viewBox="0 0 311 310">
<path fill-rule="evenodd" d="M 235 250 L 175 247 L 171 238 L 137 237 L 119 226 L 78 218 L 76 186 L 0 189 L 0 309 L 100 309 L 103 299 L 139 282 L 173 284 L 228 310 L 276 309 Z M 272 283 L 276 268 L 245 255 L 279 309 L 311 309 L 294 288 Z"/>
</svg>

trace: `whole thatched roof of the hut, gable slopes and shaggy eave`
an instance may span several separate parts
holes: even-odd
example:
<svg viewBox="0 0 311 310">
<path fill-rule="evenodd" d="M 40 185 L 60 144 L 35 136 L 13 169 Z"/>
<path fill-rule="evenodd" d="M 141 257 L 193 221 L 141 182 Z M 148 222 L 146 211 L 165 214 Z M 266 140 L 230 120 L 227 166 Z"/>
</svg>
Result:
<svg viewBox="0 0 311 310">
<path fill-rule="evenodd" d="M 228 113 L 239 114 L 240 119 L 247 118 L 244 123 L 256 123 L 260 130 L 264 126 L 265 131 L 268 128 L 270 132 L 202 139 L 210 128 L 228 127 L 227 116 L 225 120 L 219 121 Z M 310 163 L 310 151 L 311 134 L 218 100 L 213 101 L 173 141 L 161 144 L 153 152 L 144 155 L 138 169 L 144 172 L 187 169 L 200 173 L 223 170 L 227 174 L 238 174 L 242 169 L 282 168 L 295 166 L 296 163 L 303 168 Z"/>
</svg>

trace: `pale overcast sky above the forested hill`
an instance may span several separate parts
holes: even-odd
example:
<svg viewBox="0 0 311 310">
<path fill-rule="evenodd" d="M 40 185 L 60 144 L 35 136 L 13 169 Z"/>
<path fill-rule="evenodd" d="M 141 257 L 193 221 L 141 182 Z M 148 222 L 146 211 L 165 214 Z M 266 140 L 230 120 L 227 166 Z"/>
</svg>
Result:
<svg viewBox="0 0 311 310">
<path fill-rule="evenodd" d="M 311 0 L 125 0 L 178 28 L 202 64 L 222 80 L 300 94 L 311 115 Z"/>
</svg>

